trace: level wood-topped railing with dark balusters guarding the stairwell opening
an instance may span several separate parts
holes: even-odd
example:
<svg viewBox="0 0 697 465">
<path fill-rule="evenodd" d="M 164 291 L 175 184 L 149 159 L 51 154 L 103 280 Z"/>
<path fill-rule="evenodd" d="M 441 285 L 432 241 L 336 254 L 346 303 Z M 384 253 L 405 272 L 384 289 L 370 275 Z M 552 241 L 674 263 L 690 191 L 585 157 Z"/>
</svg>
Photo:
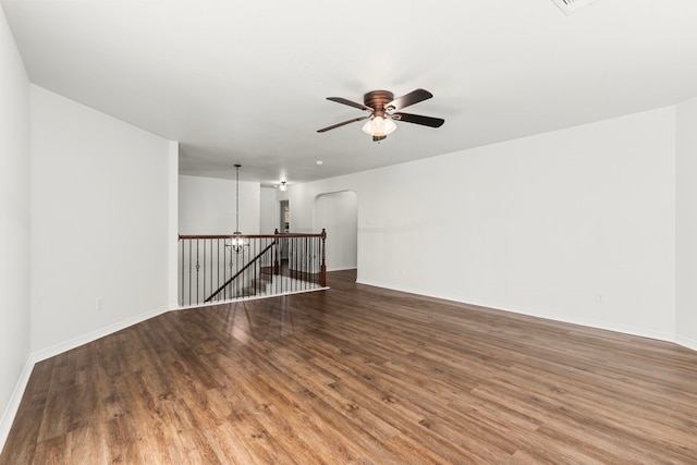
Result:
<svg viewBox="0 0 697 465">
<path fill-rule="evenodd" d="M 181 306 L 265 297 L 326 289 L 327 233 L 180 235 Z"/>
</svg>

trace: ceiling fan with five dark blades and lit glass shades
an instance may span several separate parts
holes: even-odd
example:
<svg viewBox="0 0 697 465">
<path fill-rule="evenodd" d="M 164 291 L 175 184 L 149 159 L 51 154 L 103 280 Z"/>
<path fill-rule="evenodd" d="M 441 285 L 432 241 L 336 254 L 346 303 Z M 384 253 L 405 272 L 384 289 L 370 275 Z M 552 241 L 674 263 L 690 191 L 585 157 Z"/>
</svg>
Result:
<svg viewBox="0 0 697 465">
<path fill-rule="evenodd" d="M 396 129 L 396 124 L 394 124 L 394 121 L 420 124 L 423 126 L 440 127 L 445 122 L 445 120 L 441 118 L 402 113 L 400 111 L 403 108 L 406 108 L 414 103 L 418 103 L 419 101 L 427 100 L 431 97 L 433 97 L 433 94 L 425 89 L 412 90 L 411 93 L 403 95 L 400 98 L 394 98 L 394 95 L 388 90 L 372 90 L 363 96 L 363 103 L 347 100 L 342 97 L 327 97 L 327 100 L 347 105 L 359 110 L 365 110 L 370 112 L 370 114 L 354 118 L 353 120 L 344 121 L 342 123 L 332 124 L 331 126 L 317 130 L 317 132 L 325 133 L 327 131 L 341 127 L 344 124 L 368 120 L 368 122 L 366 122 L 366 124 L 363 126 L 363 132 L 371 135 L 372 140 L 380 142 L 387 138 L 388 134 L 392 133 Z"/>
</svg>

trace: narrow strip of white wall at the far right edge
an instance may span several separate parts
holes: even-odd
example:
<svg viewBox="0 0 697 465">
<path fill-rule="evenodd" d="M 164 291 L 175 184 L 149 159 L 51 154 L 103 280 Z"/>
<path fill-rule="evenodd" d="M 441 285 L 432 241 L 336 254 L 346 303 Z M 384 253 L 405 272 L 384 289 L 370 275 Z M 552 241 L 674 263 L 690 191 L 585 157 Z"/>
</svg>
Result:
<svg viewBox="0 0 697 465">
<path fill-rule="evenodd" d="M 677 341 L 697 350 L 697 98 L 677 106 Z"/>
</svg>

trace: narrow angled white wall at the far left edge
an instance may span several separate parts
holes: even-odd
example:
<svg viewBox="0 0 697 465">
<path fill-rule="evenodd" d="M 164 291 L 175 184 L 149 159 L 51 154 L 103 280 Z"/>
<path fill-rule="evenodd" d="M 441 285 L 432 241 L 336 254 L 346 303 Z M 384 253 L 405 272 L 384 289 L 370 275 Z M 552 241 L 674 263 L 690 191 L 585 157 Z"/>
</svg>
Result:
<svg viewBox="0 0 697 465">
<path fill-rule="evenodd" d="M 0 70 L 1 451 L 30 369 L 29 82 L 2 10 Z"/>
</svg>

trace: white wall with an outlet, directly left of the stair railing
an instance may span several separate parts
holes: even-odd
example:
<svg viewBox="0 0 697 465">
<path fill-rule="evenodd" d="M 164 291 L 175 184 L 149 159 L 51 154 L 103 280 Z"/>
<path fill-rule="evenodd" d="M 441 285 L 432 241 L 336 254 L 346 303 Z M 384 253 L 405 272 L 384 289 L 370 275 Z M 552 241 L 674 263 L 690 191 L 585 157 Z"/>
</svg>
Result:
<svg viewBox="0 0 697 465">
<path fill-rule="evenodd" d="M 32 86 L 37 357 L 168 309 L 175 162 L 170 142 Z"/>
</svg>

